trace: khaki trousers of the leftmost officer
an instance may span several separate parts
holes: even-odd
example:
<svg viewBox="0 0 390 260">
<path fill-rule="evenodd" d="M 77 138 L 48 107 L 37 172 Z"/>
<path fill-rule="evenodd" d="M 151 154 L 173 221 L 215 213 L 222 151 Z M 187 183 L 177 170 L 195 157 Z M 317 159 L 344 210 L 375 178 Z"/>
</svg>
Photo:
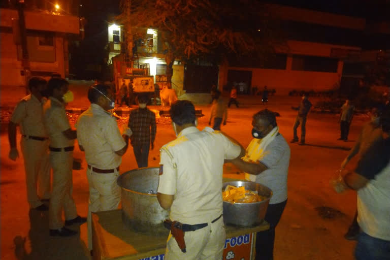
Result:
<svg viewBox="0 0 390 260">
<path fill-rule="evenodd" d="M 27 201 L 30 208 L 42 205 L 40 199 L 50 199 L 49 141 L 22 137 L 20 142 L 26 174 Z"/>
</svg>

